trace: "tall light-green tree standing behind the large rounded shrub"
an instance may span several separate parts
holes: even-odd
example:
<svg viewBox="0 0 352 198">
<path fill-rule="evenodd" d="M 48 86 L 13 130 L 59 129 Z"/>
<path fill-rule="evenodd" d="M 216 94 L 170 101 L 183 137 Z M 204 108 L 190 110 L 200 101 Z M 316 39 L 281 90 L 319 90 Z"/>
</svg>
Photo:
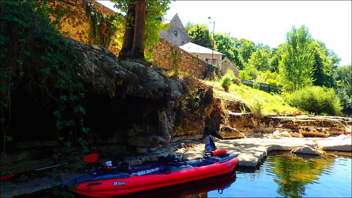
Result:
<svg viewBox="0 0 352 198">
<path fill-rule="evenodd" d="M 292 92 L 311 85 L 314 81 L 314 49 L 308 27 L 293 26 L 287 32 L 283 44 L 279 73 L 282 76 L 283 89 Z"/>
</svg>

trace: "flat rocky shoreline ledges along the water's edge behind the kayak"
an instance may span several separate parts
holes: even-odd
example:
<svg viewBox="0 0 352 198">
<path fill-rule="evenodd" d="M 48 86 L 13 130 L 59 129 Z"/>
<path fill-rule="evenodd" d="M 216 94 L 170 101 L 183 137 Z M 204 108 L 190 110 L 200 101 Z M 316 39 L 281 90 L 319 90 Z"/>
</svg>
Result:
<svg viewBox="0 0 352 198">
<path fill-rule="evenodd" d="M 347 133 L 339 135 L 330 135 L 327 137 L 310 137 L 296 138 L 287 137 L 287 133 L 246 133 L 242 139 L 218 139 L 215 138 L 217 149 L 225 149 L 228 153 L 238 154 L 238 166 L 243 167 L 258 167 L 260 162 L 271 151 L 293 151 L 293 154 L 314 158 L 314 155 L 322 155 L 325 151 L 340 151 L 351 152 L 352 138 L 351 130 L 346 130 Z M 280 134 L 279 134 L 280 133 Z M 260 134 L 260 136 L 259 136 Z M 288 133 L 290 134 L 290 133 Z M 259 137 L 253 137 L 259 136 Z M 195 140 L 191 140 L 195 139 Z M 152 149 L 147 149 L 144 155 L 130 155 L 124 161 L 128 161 L 131 165 L 142 164 L 144 161 L 155 161 L 160 156 L 167 156 L 169 153 L 174 153 L 182 156 L 184 159 L 196 159 L 202 157 L 204 151 L 204 138 L 200 135 L 187 136 L 187 139 L 174 138 L 174 141 L 169 145 L 161 146 Z M 107 159 L 101 158 L 99 162 L 104 162 Z M 5 183 L 1 184 L 1 197 L 13 197 L 22 194 L 37 192 L 43 189 L 48 189 L 54 183 L 54 178 L 60 175 L 63 183 L 79 177 L 82 174 L 73 174 L 69 171 L 61 173 L 46 172 L 43 177 L 34 178 L 21 182 L 20 179 L 9 181 L 7 184 L 10 191 L 5 190 Z M 58 183 L 57 183 L 58 184 Z"/>
</svg>

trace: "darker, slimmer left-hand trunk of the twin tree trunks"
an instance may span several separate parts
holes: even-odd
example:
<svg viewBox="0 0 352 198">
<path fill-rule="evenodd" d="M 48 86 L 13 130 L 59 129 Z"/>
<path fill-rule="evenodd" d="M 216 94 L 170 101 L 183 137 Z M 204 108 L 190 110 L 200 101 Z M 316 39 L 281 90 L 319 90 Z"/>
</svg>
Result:
<svg viewBox="0 0 352 198">
<path fill-rule="evenodd" d="M 133 46 L 134 37 L 134 21 L 136 16 L 136 1 L 129 1 L 128 11 L 127 11 L 126 27 L 124 33 L 124 41 L 122 43 L 122 48 L 119 53 L 119 58 L 125 59 Z"/>
</svg>

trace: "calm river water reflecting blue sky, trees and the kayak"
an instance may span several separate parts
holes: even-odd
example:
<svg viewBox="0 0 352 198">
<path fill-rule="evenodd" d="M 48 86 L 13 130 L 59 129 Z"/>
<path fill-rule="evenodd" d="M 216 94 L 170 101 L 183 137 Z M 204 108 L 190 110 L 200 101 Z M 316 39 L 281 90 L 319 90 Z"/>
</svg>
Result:
<svg viewBox="0 0 352 198">
<path fill-rule="evenodd" d="M 351 153 L 310 158 L 271 155 L 257 170 L 238 167 L 231 174 L 128 197 L 352 197 Z"/>
</svg>

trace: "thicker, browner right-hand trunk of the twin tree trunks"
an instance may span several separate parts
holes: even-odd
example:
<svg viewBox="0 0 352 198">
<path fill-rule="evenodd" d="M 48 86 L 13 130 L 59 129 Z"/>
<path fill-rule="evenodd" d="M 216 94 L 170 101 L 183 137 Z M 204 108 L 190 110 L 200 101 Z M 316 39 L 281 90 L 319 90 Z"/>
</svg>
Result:
<svg viewBox="0 0 352 198">
<path fill-rule="evenodd" d="M 144 58 L 146 1 L 136 1 L 136 18 L 134 24 L 133 46 L 130 55 L 133 58 Z"/>
</svg>

